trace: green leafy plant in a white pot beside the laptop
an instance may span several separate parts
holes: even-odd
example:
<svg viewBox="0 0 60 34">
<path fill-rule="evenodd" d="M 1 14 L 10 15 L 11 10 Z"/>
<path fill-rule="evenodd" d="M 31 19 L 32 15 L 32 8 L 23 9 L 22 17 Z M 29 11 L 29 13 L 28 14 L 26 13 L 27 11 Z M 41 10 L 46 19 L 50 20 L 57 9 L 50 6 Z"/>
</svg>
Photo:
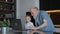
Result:
<svg viewBox="0 0 60 34">
<path fill-rule="evenodd" d="M 2 27 L 2 34 L 7 34 L 7 28 L 10 26 L 10 20 L 4 19 L 0 21 L 0 26 Z"/>
</svg>

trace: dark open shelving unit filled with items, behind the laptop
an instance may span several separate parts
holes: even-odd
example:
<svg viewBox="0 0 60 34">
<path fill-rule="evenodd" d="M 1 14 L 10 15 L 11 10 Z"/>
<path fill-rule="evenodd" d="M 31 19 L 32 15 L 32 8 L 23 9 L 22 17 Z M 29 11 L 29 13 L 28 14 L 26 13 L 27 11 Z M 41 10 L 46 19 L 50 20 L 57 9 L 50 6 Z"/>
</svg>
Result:
<svg viewBox="0 0 60 34">
<path fill-rule="evenodd" d="M 16 0 L 0 0 L 0 5 L 0 20 L 14 21 L 16 19 Z"/>
</svg>

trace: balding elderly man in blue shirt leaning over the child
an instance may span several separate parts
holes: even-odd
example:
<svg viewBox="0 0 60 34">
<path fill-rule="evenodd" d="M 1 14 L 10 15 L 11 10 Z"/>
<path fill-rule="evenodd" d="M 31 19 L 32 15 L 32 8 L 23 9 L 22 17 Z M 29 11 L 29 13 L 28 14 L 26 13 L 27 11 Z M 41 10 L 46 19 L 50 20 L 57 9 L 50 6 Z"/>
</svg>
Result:
<svg viewBox="0 0 60 34">
<path fill-rule="evenodd" d="M 30 9 L 30 13 L 35 19 L 36 27 L 39 26 L 39 29 L 42 31 L 55 32 L 53 22 L 50 16 L 46 13 L 46 11 L 39 11 L 37 7 L 32 7 Z"/>
</svg>

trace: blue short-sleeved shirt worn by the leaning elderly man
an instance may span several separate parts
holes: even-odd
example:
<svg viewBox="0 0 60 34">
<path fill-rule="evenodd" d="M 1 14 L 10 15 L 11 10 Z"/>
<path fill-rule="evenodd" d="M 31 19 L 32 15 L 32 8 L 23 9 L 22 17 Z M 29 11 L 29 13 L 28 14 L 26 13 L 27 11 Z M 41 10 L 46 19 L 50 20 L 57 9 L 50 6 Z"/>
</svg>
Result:
<svg viewBox="0 0 60 34">
<path fill-rule="evenodd" d="M 52 32 L 55 32 L 55 28 L 54 28 L 54 25 L 53 25 L 53 22 L 50 18 L 50 16 L 46 13 L 46 11 L 39 11 L 38 13 L 38 21 L 39 22 L 35 22 L 36 24 L 38 23 L 39 25 L 43 24 L 43 19 L 47 19 L 47 26 L 42 28 L 42 31 L 52 31 Z M 35 20 L 37 21 L 37 20 Z"/>
</svg>

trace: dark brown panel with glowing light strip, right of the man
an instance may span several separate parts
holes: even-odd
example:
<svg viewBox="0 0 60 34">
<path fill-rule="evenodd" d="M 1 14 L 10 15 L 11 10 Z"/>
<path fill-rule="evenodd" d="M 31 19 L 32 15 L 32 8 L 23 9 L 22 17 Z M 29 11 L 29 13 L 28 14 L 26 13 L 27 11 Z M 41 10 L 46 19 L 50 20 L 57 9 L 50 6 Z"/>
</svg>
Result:
<svg viewBox="0 0 60 34">
<path fill-rule="evenodd" d="M 60 10 L 47 11 L 55 27 L 60 28 Z"/>
</svg>

